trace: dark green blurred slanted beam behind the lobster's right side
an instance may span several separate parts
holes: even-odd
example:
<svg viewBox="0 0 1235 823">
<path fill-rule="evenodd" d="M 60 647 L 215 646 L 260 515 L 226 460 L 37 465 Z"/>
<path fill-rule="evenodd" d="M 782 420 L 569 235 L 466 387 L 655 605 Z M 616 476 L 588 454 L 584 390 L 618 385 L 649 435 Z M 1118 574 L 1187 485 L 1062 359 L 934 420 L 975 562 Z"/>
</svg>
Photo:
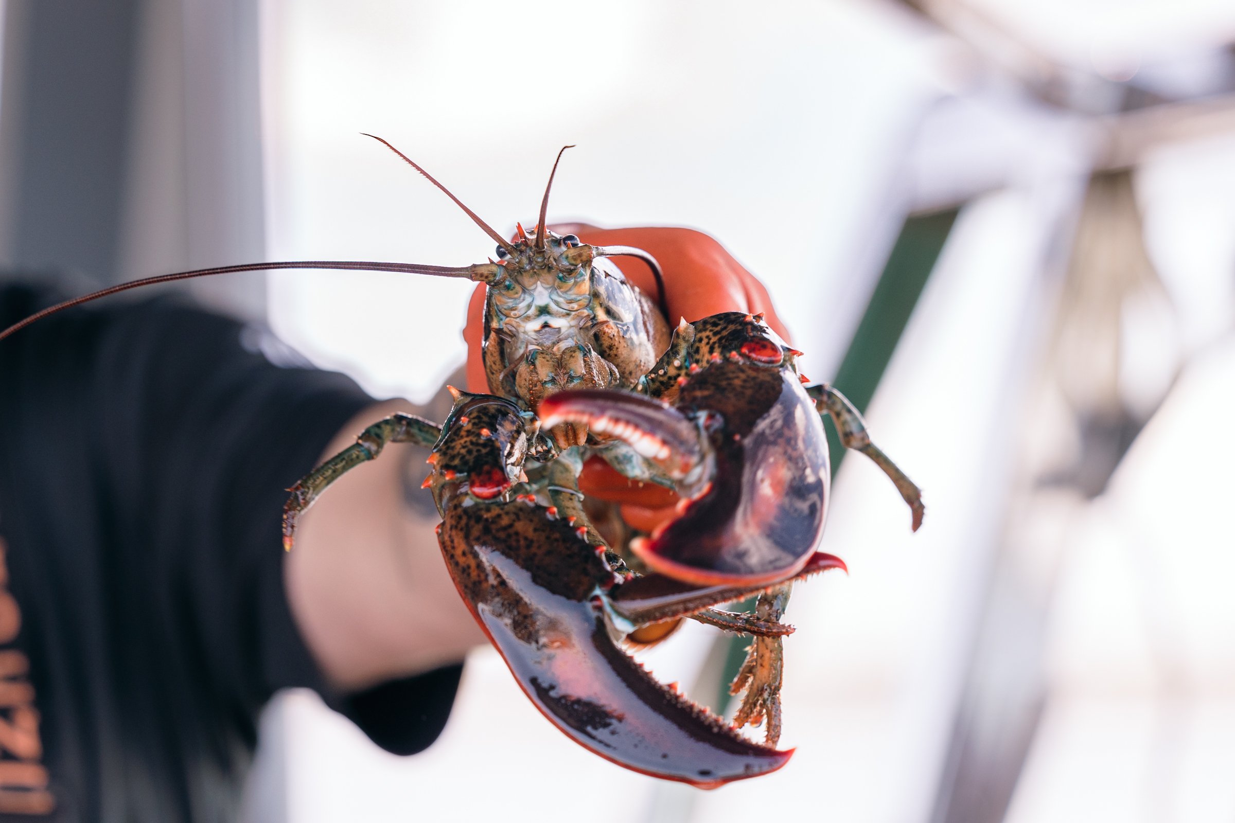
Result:
<svg viewBox="0 0 1235 823">
<path fill-rule="evenodd" d="M 871 294 L 871 301 L 862 313 L 862 321 L 853 332 L 853 339 L 850 341 L 845 359 L 836 371 L 836 379 L 831 383 L 860 412 L 866 412 L 876 387 L 883 379 L 883 373 L 897 350 L 926 280 L 935 269 L 944 243 L 952 231 L 957 213 L 960 209 L 910 215 L 900 228 L 879 281 Z M 824 424 L 824 431 L 827 433 L 827 449 L 835 478 L 841 460 L 845 459 L 845 449 L 830 420 Z M 752 597 L 730 608 L 750 611 L 753 606 Z M 737 670 L 746 659 L 750 639 L 742 634 L 725 634 L 716 642 L 724 644 L 726 651 L 713 711 L 724 714 L 731 700 L 729 684 L 737 676 Z"/>
</svg>

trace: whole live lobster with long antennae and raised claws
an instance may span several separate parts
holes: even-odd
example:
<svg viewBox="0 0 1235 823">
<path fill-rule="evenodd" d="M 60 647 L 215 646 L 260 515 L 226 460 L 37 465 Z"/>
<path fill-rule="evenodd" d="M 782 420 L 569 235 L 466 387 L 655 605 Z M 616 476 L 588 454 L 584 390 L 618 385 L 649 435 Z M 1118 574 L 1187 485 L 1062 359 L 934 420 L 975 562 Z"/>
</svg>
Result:
<svg viewBox="0 0 1235 823">
<path fill-rule="evenodd" d="M 369 137 L 373 137 L 372 134 Z M 794 581 L 839 558 L 815 552 L 829 498 L 821 417 L 846 448 L 871 457 L 913 512 L 919 489 L 874 444 L 861 416 L 827 385 L 808 386 L 762 315 L 722 312 L 669 329 L 664 281 L 648 253 L 589 246 L 546 226 L 558 152 L 532 233 L 506 239 L 416 163 L 496 242 L 469 267 L 308 260 L 199 269 L 136 280 L 52 312 L 154 283 L 259 269 L 383 270 L 485 285 L 482 359 L 489 394 L 451 389 L 441 426 L 396 413 L 366 428 L 289 491 L 284 547 L 298 518 L 340 476 L 387 443 L 430 448 L 431 490 L 447 568 L 472 614 L 529 700 L 564 734 L 627 769 L 710 788 L 774 771 L 781 622 Z M 631 255 L 656 278 L 657 300 L 608 258 Z M 651 532 L 585 497 L 579 476 L 603 461 L 672 490 L 676 516 Z M 718 606 L 757 596 L 755 611 Z M 658 684 L 624 647 L 659 642 L 683 618 L 755 638 L 724 722 Z M 764 723 L 763 744 L 737 728 Z"/>
</svg>

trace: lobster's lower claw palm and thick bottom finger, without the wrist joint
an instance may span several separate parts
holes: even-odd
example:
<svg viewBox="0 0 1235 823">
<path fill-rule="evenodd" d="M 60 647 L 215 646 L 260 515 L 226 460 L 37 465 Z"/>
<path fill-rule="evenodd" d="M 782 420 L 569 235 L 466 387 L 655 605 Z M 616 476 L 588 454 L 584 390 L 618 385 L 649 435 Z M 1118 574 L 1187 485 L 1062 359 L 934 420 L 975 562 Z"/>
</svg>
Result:
<svg viewBox="0 0 1235 823">
<path fill-rule="evenodd" d="M 661 686 L 614 642 L 615 579 L 567 522 L 530 502 L 445 506 L 442 554 L 532 703 L 576 743 L 655 777 L 714 788 L 788 763 Z"/>
</svg>

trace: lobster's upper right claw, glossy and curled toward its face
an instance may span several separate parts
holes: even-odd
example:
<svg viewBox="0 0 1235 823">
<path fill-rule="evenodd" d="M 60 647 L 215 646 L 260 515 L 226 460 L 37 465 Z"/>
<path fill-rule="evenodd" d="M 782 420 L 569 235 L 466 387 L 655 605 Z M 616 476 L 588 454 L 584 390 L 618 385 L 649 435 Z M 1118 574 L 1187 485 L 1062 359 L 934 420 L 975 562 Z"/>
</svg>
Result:
<svg viewBox="0 0 1235 823">
<path fill-rule="evenodd" d="M 819 544 L 827 440 L 789 369 L 718 358 L 683 379 L 676 406 L 569 391 L 547 397 L 540 415 L 542 426 L 578 421 L 625 442 L 674 482 L 678 516 L 631 542 L 653 571 L 695 585 L 769 585 L 798 574 Z"/>
</svg>

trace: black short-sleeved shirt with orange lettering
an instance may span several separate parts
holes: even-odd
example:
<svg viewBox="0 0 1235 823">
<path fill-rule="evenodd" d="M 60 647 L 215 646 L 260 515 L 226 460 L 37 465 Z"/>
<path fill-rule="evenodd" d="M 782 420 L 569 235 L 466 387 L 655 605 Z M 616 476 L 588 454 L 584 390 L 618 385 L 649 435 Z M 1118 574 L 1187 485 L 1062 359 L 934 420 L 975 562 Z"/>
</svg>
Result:
<svg viewBox="0 0 1235 823">
<path fill-rule="evenodd" d="M 42 302 L 0 290 L 0 327 Z M 168 299 L 0 341 L 0 819 L 231 819 L 289 686 L 395 753 L 441 732 L 459 666 L 332 695 L 295 628 L 284 490 L 373 400 L 256 349 Z"/>
</svg>

